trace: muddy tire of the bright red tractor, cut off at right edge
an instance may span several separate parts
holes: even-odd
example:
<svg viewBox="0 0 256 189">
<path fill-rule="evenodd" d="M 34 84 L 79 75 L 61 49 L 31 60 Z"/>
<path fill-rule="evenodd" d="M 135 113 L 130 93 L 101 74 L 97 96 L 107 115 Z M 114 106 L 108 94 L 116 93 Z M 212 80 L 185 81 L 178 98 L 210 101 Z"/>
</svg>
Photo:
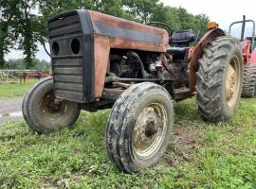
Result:
<svg viewBox="0 0 256 189">
<path fill-rule="evenodd" d="M 255 97 L 255 95 L 256 95 L 256 63 L 248 63 L 244 67 L 242 97 Z"/>
</svg>

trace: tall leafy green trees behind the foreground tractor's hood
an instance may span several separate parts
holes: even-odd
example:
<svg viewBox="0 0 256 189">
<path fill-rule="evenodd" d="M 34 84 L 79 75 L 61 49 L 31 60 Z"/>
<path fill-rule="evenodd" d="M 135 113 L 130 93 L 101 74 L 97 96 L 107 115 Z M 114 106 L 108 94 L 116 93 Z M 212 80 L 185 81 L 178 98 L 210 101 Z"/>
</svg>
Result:
<svg viewBox="0 0 256 189">
<path fill-rule="evenodd" d="M 209 18 L 192 15 L 182 8 L 166 7 L 159 0 L 6 0 L 0 2 L 0 67 L 4 54 L 17 46 L 25 55 L 26 67 L 33 67 L 37 44 L 45 44 L 49 18 L 67 9 L 93 9 L 140 23 L 160 21 L 174 28 L 206 31 Z M 18 44 L 18 45 L 15 45 Z"/>
</svg>

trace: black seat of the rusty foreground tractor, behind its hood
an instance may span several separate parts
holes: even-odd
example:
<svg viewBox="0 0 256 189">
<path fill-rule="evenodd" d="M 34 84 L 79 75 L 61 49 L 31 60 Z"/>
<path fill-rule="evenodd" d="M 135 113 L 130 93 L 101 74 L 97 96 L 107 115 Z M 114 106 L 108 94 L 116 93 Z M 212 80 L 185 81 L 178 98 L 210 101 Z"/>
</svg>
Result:
<svg viewBox="0 0 256 189">
<path fill-rule="evenodd" d="M 175 31 L 170 38 L 170 44 L 176 47 L 188 47 L 195 41 L 195 35 L 192 29 Z"/>
</svg>

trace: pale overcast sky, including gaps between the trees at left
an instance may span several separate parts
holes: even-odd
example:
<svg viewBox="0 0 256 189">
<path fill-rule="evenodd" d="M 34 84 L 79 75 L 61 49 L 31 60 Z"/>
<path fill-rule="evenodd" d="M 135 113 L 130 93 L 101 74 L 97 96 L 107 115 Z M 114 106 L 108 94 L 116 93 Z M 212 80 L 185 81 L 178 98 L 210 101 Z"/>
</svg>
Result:
<svg viewBox="0 0 256 189">
<path fill-rule="evenodd" d="M 171 7 L 185 8 L 192 14 L 207 14 L 210 21 L 217 22 L 221 28 L 227 31 L 229 30 L 229 24 L 242 20 L 243 15 L 246 15 L 247 19 L 256 21 L 256 0 L 162 0 L 162 2 Z M 239 28 L 241 26 L 233 27 L 235 35 L 239 34 Z M 251 35 L 251 32 L 251 26 L 248 25 L 247 36 Z M 5 58 L 9 60 L 22 57 L 22 52 L 12 50 Z M 49 60 L 43 46 L 39 46 L 36 58 Z"/>
</svg>

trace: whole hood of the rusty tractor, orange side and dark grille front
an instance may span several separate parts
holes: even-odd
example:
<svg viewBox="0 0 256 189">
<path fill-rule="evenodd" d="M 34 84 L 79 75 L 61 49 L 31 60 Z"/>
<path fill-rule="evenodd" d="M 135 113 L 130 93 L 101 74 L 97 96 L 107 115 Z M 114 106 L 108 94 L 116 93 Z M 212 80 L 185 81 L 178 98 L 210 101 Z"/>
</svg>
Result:
<svg viewBox="0 0 256 189">
<path fill-rule="evenodd" d="M 91 10 L 70 10 L 48 22 L 55 94 L 77 102 L 101 97 L 111 48 L 166 52 L 166 30 Z"/>
</svg>

